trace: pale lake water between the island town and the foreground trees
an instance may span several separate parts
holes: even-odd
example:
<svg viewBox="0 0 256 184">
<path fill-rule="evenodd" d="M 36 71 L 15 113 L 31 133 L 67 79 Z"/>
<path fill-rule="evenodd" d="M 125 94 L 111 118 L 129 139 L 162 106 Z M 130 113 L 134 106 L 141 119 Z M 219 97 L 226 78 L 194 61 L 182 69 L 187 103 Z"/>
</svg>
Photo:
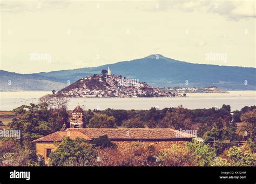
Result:
<svg viewBox="0 0 256 184">
<path fill-rule="evenodd" d="M 91 108 L 115 108 L 124 110 L 146 110 L 151 107 L 211 108 L 230 105 L 231 110 L 256 105 L 256 91 L 229 91 L 230 93 L 187 93 L 186 98 L 69 98 L 68 109 L 73 110 L 77 103 Z M 0 92 L 0 110 L 8 111 L 23 104 L 37 103 L 38 98 L 50 91 Z"/>
</svg>

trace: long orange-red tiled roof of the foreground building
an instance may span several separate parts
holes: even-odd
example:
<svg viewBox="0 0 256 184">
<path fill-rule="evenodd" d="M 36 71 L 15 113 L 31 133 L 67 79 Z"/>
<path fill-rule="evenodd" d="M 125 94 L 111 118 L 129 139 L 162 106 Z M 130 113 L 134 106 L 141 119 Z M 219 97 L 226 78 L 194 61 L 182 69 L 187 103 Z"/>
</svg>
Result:
<svg viewBox="0 0 256 184">
<path fill-rule="evenodd" d="M 177 140 L 191 139 L 192 134 L 186 134 L 171 128 L 68 128 L 66 131 L 59 131 L 43 138 L 39 141 L 61 141 L 64 136 L 71 139 L 76 137 L 92 140 L 107 135 L 110 140 Z"/>
</svg>

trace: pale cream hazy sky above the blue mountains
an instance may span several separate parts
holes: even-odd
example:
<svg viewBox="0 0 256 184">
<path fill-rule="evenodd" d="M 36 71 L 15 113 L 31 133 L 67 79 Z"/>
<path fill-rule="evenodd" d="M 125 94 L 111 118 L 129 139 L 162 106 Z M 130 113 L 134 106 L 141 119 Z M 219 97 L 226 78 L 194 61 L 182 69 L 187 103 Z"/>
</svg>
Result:
<svg viewBox="0 0 256 184">
<path fill-rule="evenodd" d="M 77 69 L 156 53 L 255 67 L 255 1 L 1 0 L 0 30 L 0 69 L 11 72 Z"/>
</svg>

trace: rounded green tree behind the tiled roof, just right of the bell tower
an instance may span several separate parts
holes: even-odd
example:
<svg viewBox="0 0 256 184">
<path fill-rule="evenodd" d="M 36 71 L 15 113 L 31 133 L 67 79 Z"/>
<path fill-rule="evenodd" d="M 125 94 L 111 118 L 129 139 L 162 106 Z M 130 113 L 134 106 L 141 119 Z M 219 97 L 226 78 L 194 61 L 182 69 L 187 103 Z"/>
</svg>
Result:
<svg viewBox="0 0 256 184">
<path fill-rule="evenodd" d="M 106 114 L 95 114 L 88 125 L 89 128 L 114 128 L 116 127 L 115 119 Z"/>
</svg>

